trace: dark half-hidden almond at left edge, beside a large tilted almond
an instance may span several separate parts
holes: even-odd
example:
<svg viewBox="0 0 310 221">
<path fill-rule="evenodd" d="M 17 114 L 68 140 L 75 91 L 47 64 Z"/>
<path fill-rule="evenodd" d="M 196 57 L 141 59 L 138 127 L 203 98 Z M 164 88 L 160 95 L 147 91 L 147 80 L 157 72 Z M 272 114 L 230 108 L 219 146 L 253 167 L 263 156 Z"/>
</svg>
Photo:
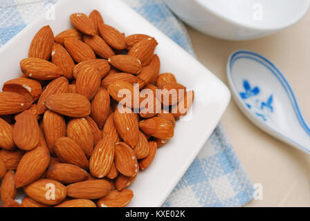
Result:
<svg viewBox="0 0 310 221">
<path fill-rule="evenodd" d="M 3 160 L 8 170 L 16 170 L 17 166 L 24 155 L 24 151 L 0 151 L 0 158 Z"/>
</svg>

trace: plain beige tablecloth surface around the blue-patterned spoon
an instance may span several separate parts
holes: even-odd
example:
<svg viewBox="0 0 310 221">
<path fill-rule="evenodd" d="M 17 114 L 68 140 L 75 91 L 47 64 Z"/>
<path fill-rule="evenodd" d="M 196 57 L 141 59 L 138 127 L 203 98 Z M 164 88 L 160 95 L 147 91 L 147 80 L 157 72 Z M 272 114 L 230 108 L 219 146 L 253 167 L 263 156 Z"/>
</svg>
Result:
<svg viewBox="0 0 310 221">
<path fill-rule="evenodd" d="M 251 41 L 215 39 L 190 27 L 188 32 L 199 61 L 226 84 L 226 62 L 234 50 L 253 50 L 271 59 L 289 80 L 310 122 L 310 12 L 286 30 Z M 233 100 L 222 122 L 250 179 L 263 187 L 263 199 L 246 206 L 310 206 L 309 155 L 254 126 Z"/>
</svg>

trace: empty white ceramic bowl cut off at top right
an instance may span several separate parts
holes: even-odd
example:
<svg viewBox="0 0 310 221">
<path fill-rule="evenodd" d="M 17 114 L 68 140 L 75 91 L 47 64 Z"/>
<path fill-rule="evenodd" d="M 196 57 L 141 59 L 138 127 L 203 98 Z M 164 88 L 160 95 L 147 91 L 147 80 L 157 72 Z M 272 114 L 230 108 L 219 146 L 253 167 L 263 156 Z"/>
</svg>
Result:
<svg viewBox="0 0 310 221">
<path fill-rule="evenodd" d="M 304 17 L 310 0 L 165 0 L 185 23 L 213 37 L 247 40 L 271 35 Z"/>
</svg>

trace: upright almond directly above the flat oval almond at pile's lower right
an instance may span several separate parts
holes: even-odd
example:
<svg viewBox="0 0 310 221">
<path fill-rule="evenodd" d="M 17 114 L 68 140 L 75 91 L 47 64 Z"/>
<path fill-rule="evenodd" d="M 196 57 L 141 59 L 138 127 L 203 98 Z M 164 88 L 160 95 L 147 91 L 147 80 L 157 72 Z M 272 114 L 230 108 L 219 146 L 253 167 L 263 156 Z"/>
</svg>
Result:
<svg viewBox="0 0 310 221">
<path fill-rule="evenodd" d="M 131 110 L 128 110 L 128 112 Z M 114 124 L 118 134 L 122 140 L 134 148 L 138 142 L 138 118 L 136 113 L 120 113 L 118 110 L 114 112 Z"/>
</svg>

